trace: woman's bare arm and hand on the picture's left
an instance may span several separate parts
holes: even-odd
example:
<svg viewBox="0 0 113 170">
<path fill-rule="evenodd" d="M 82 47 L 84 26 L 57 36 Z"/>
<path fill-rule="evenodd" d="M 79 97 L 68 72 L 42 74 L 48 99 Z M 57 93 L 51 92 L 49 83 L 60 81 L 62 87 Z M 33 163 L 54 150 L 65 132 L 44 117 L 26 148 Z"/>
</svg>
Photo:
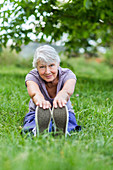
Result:
<svg viewBox="0 0 113 170">
<path fill-rule="evenodd" d="M 41 93 L 38 84 L 36 84 L 34 81 L 27 81 L 26 84 L 28 94 L 32 98 L 35 105 L 43 107 L 43 109 L 51 107 L 49 101 L 46 101 L 44 99 L 44 96 Z"/>
</svg>

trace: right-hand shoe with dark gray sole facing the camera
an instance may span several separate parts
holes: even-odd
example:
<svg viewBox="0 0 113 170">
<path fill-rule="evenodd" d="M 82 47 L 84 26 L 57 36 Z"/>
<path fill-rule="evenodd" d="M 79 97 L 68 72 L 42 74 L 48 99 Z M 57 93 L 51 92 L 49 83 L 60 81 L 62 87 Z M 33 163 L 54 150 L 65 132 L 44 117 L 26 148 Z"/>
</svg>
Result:
<svg viewBox="0 0 113 170">
<path fill-rule="evenodd" d="M 52 116 L 53 121 L 55 123 L 55 133 L 60 132 L 65 134 L 65 137 L 67 136 L 67 126 L 68 126 L 68 110 L 67 107 L 64 106 L 60 108 L 59 106 L 57 108 L 52 109 Z"/>
</svg>

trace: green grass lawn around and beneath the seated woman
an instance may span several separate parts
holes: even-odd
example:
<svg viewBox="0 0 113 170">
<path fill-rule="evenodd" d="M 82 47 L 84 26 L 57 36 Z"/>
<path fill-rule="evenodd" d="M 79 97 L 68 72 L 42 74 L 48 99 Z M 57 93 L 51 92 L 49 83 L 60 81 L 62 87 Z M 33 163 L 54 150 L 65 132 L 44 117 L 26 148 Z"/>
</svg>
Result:
<svg viewBox="0 0 113 170">
<path fill-rule="evenodd" d="M 20 135 L 28 112 L 25 75 L 30 69 L 0 69 L 0 170 L 112 170 L 113 68 L 83 59 L 68 61 L 77 75 L 71 98 L 82 126 L 66 139 Z"/>
</svg>

